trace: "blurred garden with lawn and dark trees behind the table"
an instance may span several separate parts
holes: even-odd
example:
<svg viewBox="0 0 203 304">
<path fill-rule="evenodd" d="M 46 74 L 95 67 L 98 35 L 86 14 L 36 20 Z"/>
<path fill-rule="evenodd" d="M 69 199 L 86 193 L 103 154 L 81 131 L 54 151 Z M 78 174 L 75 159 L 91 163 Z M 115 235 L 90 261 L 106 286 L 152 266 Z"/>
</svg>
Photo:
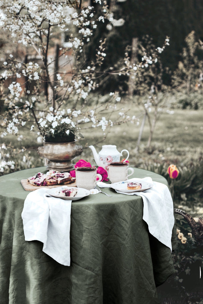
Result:
<svg viewBox="0 0 203 304">
<path fill-rule="evenodd" d="M 76 87 L 73 87 L 72 95 L 63 100 L 63 107 L 76 111 L 76 118 L 80 110 L 88 113 L 94 110 L 98 115 L 94 126 L 92 114 L 86 114 L 81 121 L 76 119 L 84 138 L 77 139 L 83 153 L 74 162 L 82 158 L 93 163 L 89 145 L 99 152 L 103 144 L 115 144 L 118 151 L 129 150 L 131 165 L 161 174 L 168 180 L 175 208 L 185 213 L 176 213 L 180 230 L 177 249 L 173 252 L 176 273 L 157 289 L 159 299 L 162 304 L 203 303 L 203 3 L 198 0 L 105 2 L 67 1 L 67 5 L 75 5 L 78 16 L 84 6 L 93 6 L 95 20 L 100 20 L 91 39 L 87 40 L 83 34 L 83 44 L 78 44 L 84 57 L 79 57 L 79 47 L 72 38 L 72 33 L 74 37 L 78 34 L 75 27 L 81 29 L 82 24 L 79 27 L 73 21 L 68 34 L 58 36 L 55 30 L 52 37 L 42 29 L 49 41 L 47 54 L 53 53 L 53 61 L 57 63 L 52 74 L 59 75 L 49 79 L 45 71 L 47 78 L 43 78 L 42 87 L 37 84 L 37 78 L 33 81 L 30 74 L 15 67 L 17 61 L 24 68 L 33 61 L 44 72 L 46 62 L 43 70 L 40 59 L 31 51 L 32 43 L 19 41 L 19 33 L 13 35 L 13 41 L 9 39 L 11 29 L 5 26 L 6 6 L 2 5 L 0 174 L 44 165 L 44 159 L 37 154 L 43 137 L 40 130 L 30 130 L 35 120 L 32 109 L 35 107 L 39 112 L 45 104 L 53 106 L 54 99 L 61 102 L 62 93 L 57 91 L 62 87 L 61 79 L 71 83 L 76 81 L 76 74 L 78 79 L 85 79 L 83 92 L 81 89 L 74 94 Z M 102 13 L 105 18 L 101 22 Z M 66 64 L 57 59 L 62 58 L 60 51 L 69 58 Z M 80 65 L 77 71 L 76 63 L 77 68 Z M 93 74 L 95 71 L 97 74 Z M 15 97 L 8 87 L 17 82 L 23 89 Z M 79 80 L 77 85 L 81 85 Z M 88 92 L 85 98 L 84 92 Z M 35 99 L 30 105 L 32 97 Z M 23 120 L 19 113 L 15 115 L 16 107 L 22 110 Z M 19 119 L 16 122 L 19 132 L 14 128 L 8 131 L 14 117 Z M 170 164 L 180 171 L 175 180 L 167 173 Z"/>
</svg>

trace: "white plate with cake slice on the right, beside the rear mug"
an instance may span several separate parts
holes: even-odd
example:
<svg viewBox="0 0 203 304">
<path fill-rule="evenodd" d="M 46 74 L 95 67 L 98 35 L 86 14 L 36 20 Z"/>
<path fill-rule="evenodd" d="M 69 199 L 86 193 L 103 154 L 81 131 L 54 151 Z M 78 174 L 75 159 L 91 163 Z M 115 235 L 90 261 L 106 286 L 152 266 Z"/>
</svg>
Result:
<svg viewBox="0 0 203 304">
<path fill-rule="evenodd" d="M 133 193 L 148 190 L 153 186 L 153 184 L 148 183 L 147 181 L 143 181 L 142 179 L 133 179 L 127 181 L 118 181 L 117 183 L 111 184 L 110 186 L 119 192 Z"/>
</svg>

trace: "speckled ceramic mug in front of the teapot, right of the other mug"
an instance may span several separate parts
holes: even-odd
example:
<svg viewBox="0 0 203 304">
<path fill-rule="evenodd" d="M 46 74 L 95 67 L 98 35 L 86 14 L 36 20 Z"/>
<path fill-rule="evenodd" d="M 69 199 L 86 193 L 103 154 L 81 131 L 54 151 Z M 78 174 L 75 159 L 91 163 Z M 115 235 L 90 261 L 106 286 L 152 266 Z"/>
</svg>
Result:
<svg viewBox="0 0 203 304">
<path fill-rule="evenodd" d="M 131 171 L 130 174 L 128 174 L 129 170 Z M 129 167 L 127 162 L 115 161 L 109 164 L 109 179 L 112 184 L 118 181 L 126 181 L 133 173 L 134 169 Z"/>
</svg>

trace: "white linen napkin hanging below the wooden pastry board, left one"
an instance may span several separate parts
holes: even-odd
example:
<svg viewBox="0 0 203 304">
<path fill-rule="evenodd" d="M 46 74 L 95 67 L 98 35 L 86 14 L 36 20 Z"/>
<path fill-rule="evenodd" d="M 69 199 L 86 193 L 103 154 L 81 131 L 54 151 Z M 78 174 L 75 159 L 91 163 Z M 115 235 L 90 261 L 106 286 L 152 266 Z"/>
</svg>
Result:
<svg viewBox="0 0 203 304">
<path fill-rule="evenodd" d="M 42 251 L 58 263 L 70 266 L 70 215 L 72 200 L 46 195 L 47 188 L 30 192 L 22 219 L 26 241 L 44 243 Z"/>
</svg>

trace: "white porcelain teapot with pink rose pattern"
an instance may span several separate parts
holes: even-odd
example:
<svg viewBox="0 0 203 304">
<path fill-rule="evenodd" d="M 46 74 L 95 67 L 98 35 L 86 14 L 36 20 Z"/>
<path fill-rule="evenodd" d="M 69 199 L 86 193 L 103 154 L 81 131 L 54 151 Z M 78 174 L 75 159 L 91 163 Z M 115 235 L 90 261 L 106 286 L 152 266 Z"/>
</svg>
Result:
<svg viewBox="0 0 203 304">
<path fill-rule="evenodd" d="M 89 148 L 93 152 L 94 160 L 97 166 L 103 167 L 106 170 L 108 170 L 108 165 L 113 161 L 120 161 L 120 157 L 124 151 L 128 154 L 124 161 L 127 161 L 129 157 L 128 150 L 124 149 L 121 151 L 121 153 L 119 153 L 115 145 L 104 145 L 99 153 L 96 152 L 94 146 L 89 146 Z"/>
</svg>

